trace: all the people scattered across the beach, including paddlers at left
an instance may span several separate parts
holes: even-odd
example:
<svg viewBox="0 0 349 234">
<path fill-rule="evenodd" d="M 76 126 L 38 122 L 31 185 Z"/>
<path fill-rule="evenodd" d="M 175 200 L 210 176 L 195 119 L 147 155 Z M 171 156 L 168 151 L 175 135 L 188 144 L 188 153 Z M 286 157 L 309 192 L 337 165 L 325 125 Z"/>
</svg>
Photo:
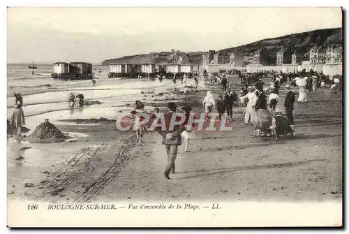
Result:
<svg viewBox="0 0 349 234">
<path fill-rule="evenodd" d="M 299 96 L 297 101 L 305 103 L 307 101 L 307 92 L 317 92 L 317 89 L 326 89 L 325 81 L 318 78 L 318 75 L 304 76 L 302 78 L 290 78 L 283 76 L 280 73 L 275 73 L 274 78 L 269 82 L 269 87 L 266 87 L 265 82 L 262 80 L 264 73 L 251 76 L 246 74 L 245 71 L 239 72 L 242 75 L 242 87 L 239 90 L 239 94 L 232 90 L 230 87 L 230 75 L 228 73 L 207 73 L 203 71 L 201 73 L 189 73 L 189 74 L 174 74 L 172 81 L 175 85 L 177 80 L 180 80 L 181 84 L 184 84 L 184 94 L 188 94 L 189 90 L 198 90 L 198 80 L 205 78 L 209 79 L 210 85 L 221 86 L 223 94 L 218 94 L 218 99 L 215 100 L 214 94 L 211 91 L 207 91 L 206 96 L 202 100 L 202 108 L 205 111 L 205 122 L 210 121 L 211 112 L 216 110 L 218 113 L 219 121 L 223 121 L 223 115 L 226 114 L 227 121 L 233 121 L 233 108 L 242 106 L 244 107 L 244 124 L 253 124 L 255 130 L 260 136 L 261 133 L 265 133 L 266 136 L 278 136 L 292 133 L 294 134 L 295 122 L 293 118 L 293 110 L 295 103 L 295 94 L 292 92 L 292 86 L 298 87 Z M 165 78 L 164 75 L 158 75 L 158 80 Z M 142 78 L 138 78 L 139 80 Z M 248 82 L 246 82 L 248 80 Z M 253 80 L 253 82 L 251 82 Z M 92 80 L 93 85 L 96 84 Z M 334 78 L 332 81 L 331 91 L 338 90 L 341 87 L 341 80 Z M 280 89 L 284 86 L 286 91 L 285 101 L 283 108 L 285 108 L 285 117 L 281 115 L 281 111 L 277 108 L 277 104 L 280 100 Z M 22 110 L 23 98 L 20 93 L 15 93 L 15 110 L 10 118 L 11 132 L 17 131 L 17 136 L 21 136 L 22 125 L 25 125 L 24 112 Z M 73 108 L 75 102 L 79 99 L 78 103 L 80 107 L 84 105 L 83 94 L 68 94 L 68 105 Z M 71 104 L 70 104 L 71 103 Z M 170 179 L 170 172 L 174 173 L 175 165 L 174 161 L 177 156 L 179 145 L 181 145 L 181 138 L 184 138 L 184 151 L 188 152 L 189 142 L 195 138 L 195 132 L 188 130 L 189 116 L 191 115 L 190 106 L 184 106 L 181 110 L 178 110 L 177 103 L 168 103 L 168 112 L 162 113 L 165 116 L 165 125 L 168 129 L 170 119 L 175 112 L 184 113 L 186 119 L 183 124 L 175 125 L 174 129 L 163 131 L 158 126 L 154 126 L 154 122 L 158 119 L 160 109 L 155 108 L 154 112 L 151 112 L 152 124 L 148 129 L 144 125 L 144 117 L 137 118 L 138 114 L 147 113 L 144 110 L 144 104 L 137 100 L 135 101 L 135 108 L 131 111 L 133 117 L 135 117 L 135 137 L 136 142 L 142 142 L 144 131 L 153 130 L 157 131 L 162 139 L 163 145 L 168 155 L 168 165 L 165 167 L 165 178 Z"/>
</svg>

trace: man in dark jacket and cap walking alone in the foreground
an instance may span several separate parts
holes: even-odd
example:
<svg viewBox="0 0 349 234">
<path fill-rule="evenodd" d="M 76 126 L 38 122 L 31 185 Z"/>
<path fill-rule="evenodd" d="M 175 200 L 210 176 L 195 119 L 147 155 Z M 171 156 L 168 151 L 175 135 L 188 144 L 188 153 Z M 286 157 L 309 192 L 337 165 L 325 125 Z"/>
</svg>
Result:
<svg viewBox="0 0 349 234">
<path fill-rule="evenodd" d="M 165 119 L 165 129 L 161 129 L 161 126 L 156 126 L 155 131 L 160 133 L 163 137 L 163 145 L 165 145 L 166 152 L 168 154 L 168 165 L 165 167 L 165 178 L 170 180 L 170 172 L 172 174 L 175 170 L 174 161 L 177 157 L 177 149 L 178 146 L 181 145 L 181 132 L 185 130 L 184 124 L 174 125 L 173 129 L 170 129 L 172 115 L 176 113 L 177 104 L 176 103 L 168 103 L 169 112 L 164 114 Z M 181 117 L 176 117 L 176 122 L 179 122 Z M 161 119 L 159 119 L 161 121 Z M 174 119 L 172 120 L 174 121 Z M 164 130 L 164 131 L 163 131 Z"/>
</svg>

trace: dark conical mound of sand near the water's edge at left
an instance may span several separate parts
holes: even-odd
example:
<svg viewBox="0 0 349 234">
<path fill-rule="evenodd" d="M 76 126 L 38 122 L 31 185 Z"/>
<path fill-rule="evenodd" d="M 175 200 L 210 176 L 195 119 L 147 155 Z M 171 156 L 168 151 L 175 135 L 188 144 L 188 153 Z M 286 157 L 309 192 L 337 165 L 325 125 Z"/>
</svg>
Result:
<svg viewBox="0 0 349 234">
<path fill-rule="evenodd" d="M 29 141 L 59 141 L 65 140 L 66 136 L 50 122 L 43 122 L 28 136 Z"/>
</svg>

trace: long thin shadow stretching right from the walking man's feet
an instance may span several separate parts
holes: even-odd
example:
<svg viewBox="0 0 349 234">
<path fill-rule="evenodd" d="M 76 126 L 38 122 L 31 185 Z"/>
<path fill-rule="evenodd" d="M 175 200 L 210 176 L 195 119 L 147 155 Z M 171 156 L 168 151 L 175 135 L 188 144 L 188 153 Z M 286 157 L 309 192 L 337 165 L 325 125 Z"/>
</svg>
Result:
<svg viewBox="0 0 349 234">
<path fill-rule="evenodd" d="M 254 166 L 238 166 L 233 168 L 217 168 L 217 169 L 206 169 L 206 170 L 191 170 L 191 171 L 182 171 L 177 172 L 176 174 L 181 173 L 202 173 L 200 175 L 189 175 L 186 177 L 179 177 L 176 180 L 183 180 L 183 179 L 190 179 L 194 177 L 203 177 L 207 175 L 218 175 L 218 174 L 224 174 L 224 173 L 232 173 L 235 171 L 243 171 L 243 170 L 258 170 L 258 169 L 268 169 L 268 168 L 290 168 L 295 166 L 302 166 L 308 163 L 312 163 L 314 161 L 326 161 L 325 159 L 313 159 L 313 160 L 306 160 L 306 161 L 297 161 L 297 162 L 288 162 L 288 163 L 269 163 L 269 164 L 263 164 L 263 165 L 254 165 Z M 214 171 L 213 173 L 206 173 Z"/>
</svg>

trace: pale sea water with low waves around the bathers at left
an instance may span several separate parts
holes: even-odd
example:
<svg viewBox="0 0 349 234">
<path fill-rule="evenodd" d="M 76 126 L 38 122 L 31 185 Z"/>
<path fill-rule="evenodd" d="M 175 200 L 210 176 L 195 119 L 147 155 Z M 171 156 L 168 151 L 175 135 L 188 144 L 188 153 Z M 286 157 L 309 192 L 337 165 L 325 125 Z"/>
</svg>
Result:
<svg viewBox="0 0 349 234">
<path fill-rule="evenodd" d="M 29 64 L 8 64 L 8 119 L 14 108 L 13 92 L 21 92 L 23 96 L 23 111 L 27 128 L 34 130 L 44 119 L 57 124 L 61 119 L 115 119 L 119 110 L 125 109 L 126 103 L 134 103 L 139 99 L 147 103 L 152 94 L 141 92 L 165 92 L 174 87 L 172 80 L 136 80 L 107 78 L 109 66 L 93 66 L 96 85 L 91 80 L 54 80 L 51 77 L 52 64 L 38 64 L 38 68 L 27 68 Z M 99 72 L 101 70 L 101 72 Z M 177 82 L 176 87 L 182 86 Z M 83 94 L 85 101 L 99 101 L 101 104 L 84 105 L 80 108 L 68 105 L 68 94 Z M 147 95 L 147 97 L 144 97 Z M 144 101 L 144 98 L 146 100 Z M 131 107 L 132 108 L 132 107 Z"/>
</svg>

